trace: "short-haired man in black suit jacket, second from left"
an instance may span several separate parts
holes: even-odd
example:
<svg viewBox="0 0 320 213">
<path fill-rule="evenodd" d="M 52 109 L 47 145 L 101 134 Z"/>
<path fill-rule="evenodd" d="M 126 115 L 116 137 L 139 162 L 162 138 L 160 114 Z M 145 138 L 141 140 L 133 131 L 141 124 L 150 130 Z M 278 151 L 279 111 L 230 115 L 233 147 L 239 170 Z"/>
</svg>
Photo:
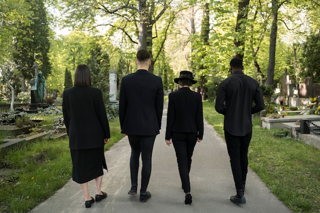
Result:
<svg viewBox="0 0 320 213">
<path fill-rule="evenodd" d="M 142 156 L 140 202 L 146 202 L 151 197 L 147 187 L 152 150 L 155 136 L 160 133 L 164 102 L 162 79 L 148 73 L 150 58 L 147 50 L 136 53 L 138 70 L 122 78 L 119 97 L 121 133 L 128 135 L 131 146 L 129 195 L 136 195 L 140 154 Z"/>
</svg>

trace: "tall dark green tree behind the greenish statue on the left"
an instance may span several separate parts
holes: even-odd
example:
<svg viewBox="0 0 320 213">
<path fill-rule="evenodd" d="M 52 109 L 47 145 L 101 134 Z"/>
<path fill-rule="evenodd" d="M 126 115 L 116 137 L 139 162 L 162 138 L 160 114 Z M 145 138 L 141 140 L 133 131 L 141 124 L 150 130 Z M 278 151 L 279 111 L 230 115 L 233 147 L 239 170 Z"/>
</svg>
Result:
<svg viewBox="0 0 320 213">
<path fill-rule="evenodd" d="M 39 70 L 43 76 L 47 77 L 51 73 L 48 52 L 50 49 L 49 26 L 47 13 L 43 0 L 26 0 L 30 4 L 32 17 L 30 26 L 20 25 L 20 31 L 15 39 L 15 52 L 13 54 L 19 72 L 22 73 L 22 91 L 25 91 L 25 79 L 34 77 L 33 64 L 37 62 Z"/>
</svg>

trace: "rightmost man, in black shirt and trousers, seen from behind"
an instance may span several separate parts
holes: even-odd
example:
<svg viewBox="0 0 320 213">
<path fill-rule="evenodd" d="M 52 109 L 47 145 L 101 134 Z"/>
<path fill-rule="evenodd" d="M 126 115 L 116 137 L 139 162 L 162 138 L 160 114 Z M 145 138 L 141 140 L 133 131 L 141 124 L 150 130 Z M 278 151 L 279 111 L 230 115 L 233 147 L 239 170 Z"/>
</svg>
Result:
<svg viewBox="0 0 320 213">
<path fill-rule="evenodd" d="M 244 75 L 242 70 L 242 59 L 231 59 L 232 75 L 220 83 L 215 105 L 216 111 L 224 115 L 224 137 L 237 190 L 230 201 L 236 204 L 246 203 L 244 188 L 248 172 L 248 147 L 252 137 L 251 115 L 265 106 L 258 82 Z"/>
</svg>

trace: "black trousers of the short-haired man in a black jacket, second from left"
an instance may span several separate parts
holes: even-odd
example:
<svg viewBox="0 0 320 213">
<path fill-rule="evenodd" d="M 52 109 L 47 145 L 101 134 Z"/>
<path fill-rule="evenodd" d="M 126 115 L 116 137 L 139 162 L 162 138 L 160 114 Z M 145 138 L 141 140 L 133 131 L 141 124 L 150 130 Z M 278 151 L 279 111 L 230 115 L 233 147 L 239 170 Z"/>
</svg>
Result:
<svg viewBox="0 0 320 213">
<path fill-rule="evenodd" d="M 131 186 L 138 186 L 139 158 L 142 158 L 142 177 L 140 193 L 145 193 L 151 176 L 151 158 L 155 135 L 128 135 L 131 146 L 130 174 Z"/>
</svg>

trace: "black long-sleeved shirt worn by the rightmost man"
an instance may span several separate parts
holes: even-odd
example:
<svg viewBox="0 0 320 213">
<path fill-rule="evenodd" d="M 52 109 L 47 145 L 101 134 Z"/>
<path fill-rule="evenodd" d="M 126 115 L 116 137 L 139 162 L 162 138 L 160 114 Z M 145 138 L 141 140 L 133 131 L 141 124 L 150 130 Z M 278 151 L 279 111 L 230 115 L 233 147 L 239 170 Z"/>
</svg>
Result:
<svg viewBox="0 0 320 213">
<path fill-rule="evenodd" d="M 215 108 L 224 115 L 225 131 L 235 136 L 248 134 L 252 131 L 251 115 L 264 109 L 258 82 L 242 71 L 234 72 L 220 83 Z"/>
</svg>

